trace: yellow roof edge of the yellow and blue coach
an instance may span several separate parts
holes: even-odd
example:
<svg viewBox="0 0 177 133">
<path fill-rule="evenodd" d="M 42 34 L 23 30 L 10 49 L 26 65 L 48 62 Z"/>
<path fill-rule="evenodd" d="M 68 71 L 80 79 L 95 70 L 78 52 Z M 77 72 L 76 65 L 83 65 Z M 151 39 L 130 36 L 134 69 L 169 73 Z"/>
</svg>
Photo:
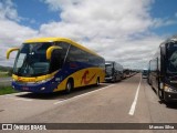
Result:
<svg viewBox="0 0 177 133">
<path fill-rule="evenodd" d="M 91 54 L 98 55 L 96 52 L 88 50 L 87 48 L 83 47 L 82 44 L 79 44 L 67 38 L 37 38 L 37 39 L 30 39 L 30 40 L 25 40 L 24 43 L 34 43 L 34 42 L 56 42 L 56 41 L 63 41 L 63 42 L 67 42 L 76 48 L 80 48 Z M 102 58 L 102 57 L 101 57 Z"/>
</svg>

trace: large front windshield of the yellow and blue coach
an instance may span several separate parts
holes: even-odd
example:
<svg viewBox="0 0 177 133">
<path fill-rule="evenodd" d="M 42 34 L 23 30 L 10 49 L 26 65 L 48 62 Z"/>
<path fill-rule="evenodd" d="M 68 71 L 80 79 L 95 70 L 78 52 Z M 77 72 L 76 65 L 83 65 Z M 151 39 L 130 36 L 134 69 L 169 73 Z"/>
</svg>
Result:
<svg viewBox="0 0 177 133">
<path fill-rule="evenodd" d="M 50 62 L 45 52 L 52 42 L 23 43 L 17 55 L 13 73 L 20 76 L 37 76 L 49 72 Z"/>
</svg>

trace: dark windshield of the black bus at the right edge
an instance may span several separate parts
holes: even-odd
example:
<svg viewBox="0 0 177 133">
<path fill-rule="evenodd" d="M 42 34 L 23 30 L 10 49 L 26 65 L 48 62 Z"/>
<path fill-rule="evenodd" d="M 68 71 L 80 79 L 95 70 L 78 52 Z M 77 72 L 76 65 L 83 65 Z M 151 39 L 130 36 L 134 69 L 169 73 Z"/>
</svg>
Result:
<svg viewBox="0 0 177 133">
<path fill-rule="evenodd" d="M 167 75 L 177 76 L 177 43 L 167 47 Z"/>
</svg>

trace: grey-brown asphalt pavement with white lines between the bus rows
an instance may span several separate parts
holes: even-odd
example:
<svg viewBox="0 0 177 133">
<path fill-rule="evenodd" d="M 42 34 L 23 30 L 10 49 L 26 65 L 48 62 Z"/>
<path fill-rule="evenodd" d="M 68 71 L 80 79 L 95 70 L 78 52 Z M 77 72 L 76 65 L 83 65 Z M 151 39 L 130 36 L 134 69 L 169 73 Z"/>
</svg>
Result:
<svg viewBox="0 0 177 133">
<path fill-rule="evenodd" d="M 164 123 L 169 123 L 168 127 L 173 129 L 171 123 L 177 122 L 176 110 L 177 103 L 162 102 L 140 74 L 117 83 L 76 89 L 71 94 L 22 92 L 0 96 L 0 123 L 56 123 L 58 126 L 64 126 L 63 130 L 58 130 L 61 133 L 175 133 L 176 130 L 160 127 L 164 127 Z M 87 124 L 83 125 L 85 123 Z M 76 126 L 76 130 L 71 130 L 70 126 Z M 82 126 L 86 130 L 82 130 Z"/>
</svg>

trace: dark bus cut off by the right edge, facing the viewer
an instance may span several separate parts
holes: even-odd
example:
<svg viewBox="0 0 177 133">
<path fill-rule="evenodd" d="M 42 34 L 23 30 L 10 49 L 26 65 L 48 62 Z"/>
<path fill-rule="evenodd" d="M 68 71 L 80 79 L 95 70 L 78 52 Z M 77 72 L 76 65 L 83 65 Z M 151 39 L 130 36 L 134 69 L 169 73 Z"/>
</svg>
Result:
<svg viewBox="0 0 177 133">
<path fill-rule="evenodd" d="M 163 42 L 149 61 L 149 84 L 159 99 L 177 100 L 177 37 Z"/>
</svg>

